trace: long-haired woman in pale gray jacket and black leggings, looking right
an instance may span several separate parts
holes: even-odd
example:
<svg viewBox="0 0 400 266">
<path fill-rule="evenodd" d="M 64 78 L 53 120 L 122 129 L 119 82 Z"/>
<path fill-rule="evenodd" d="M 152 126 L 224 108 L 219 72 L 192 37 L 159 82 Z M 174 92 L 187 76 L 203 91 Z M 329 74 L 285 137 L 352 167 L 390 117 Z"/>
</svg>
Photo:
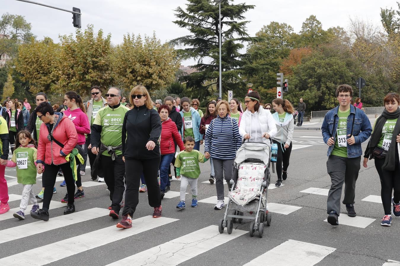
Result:
<svg viewBox="0 0 400 266">
<path fill-rule="evenodd" d="M 278 181 L 275 186 L 282 186 L 282 179 L 286 180 L 288 177 L 288 167 L 290 160 L 290 153 L 292 152 L 292 137 L 294 130 L 293 122 L 293 105 L 289 100 L 282 100 L 277 98 L 272 101 L 275 113 L 272 117 L 275 120 L 276 128 L 278 132 L 272 138 L 272 141 L 278 144 L 278 156 L 276 158 L 276 173 L 278 175 Z"/>
</svg>

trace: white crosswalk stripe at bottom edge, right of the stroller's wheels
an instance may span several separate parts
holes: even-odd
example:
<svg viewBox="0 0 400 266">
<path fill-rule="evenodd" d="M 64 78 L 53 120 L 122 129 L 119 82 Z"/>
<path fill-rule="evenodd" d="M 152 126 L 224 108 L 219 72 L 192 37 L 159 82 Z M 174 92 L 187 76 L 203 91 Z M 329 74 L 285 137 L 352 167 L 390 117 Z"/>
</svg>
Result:
<svg viewBox="0 0 400 266">
<path fill-rule="evenodd" d="M 288 252 L 289 250 L 290 252 Z M 335 250 L 336 248 L 331 248 L 329 246 L 320 246 L 317 244 L 289 239 L 244 265 L 264 265 L 265 262 L 268 262 L 268 265 L 274 266 L 286 266 L 292 264 L 295 264 L 296 266 L 312 266 L 320 262 Z"/>
</svg>

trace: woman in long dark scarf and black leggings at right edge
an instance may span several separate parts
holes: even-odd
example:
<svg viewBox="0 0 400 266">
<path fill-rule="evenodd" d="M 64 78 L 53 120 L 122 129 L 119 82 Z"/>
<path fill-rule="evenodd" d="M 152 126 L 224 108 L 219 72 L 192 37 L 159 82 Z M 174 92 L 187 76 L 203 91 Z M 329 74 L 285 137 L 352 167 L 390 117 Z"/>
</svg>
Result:
<svg viewBox="0 0 400 266">
<path fill-rule="evenodd" d="M 400 96 L 389 93 L 384 100 L 385 110 L 376 118 L 368 146 L 364 153 L 362 166 L 368 167 L 368 157 L 375 159 L 375 168 L 380 178 L 380 197 L 385 212 L 381 225 L 390 226 L 392 210 L 396 217 L 400 217 Z M 392 191 L 393 197 L 392 197 Z"/>
</svg>

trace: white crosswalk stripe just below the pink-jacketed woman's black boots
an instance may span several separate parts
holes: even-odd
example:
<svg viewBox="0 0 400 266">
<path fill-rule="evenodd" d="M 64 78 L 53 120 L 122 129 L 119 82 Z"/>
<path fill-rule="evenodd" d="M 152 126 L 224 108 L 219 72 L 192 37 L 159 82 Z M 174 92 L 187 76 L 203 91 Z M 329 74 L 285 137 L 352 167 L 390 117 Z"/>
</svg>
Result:
<svg viewBox="0 0 400 266">
<path fill-rule="evenodd" d="M 53 229 L 102 217 L 108 215 L 109 212 L 110 211 L 108 209 L 92 208 L 84 211 L 77 211 L 69 215 L 61 215 L 50 218 L 49 221 L 46 223 L 43 223 L 42 221 L 37 221 L 34 223 L 28 223 L 25 225 L 4 229 L 0 231 L 0 244 L 26 236 L 40 234 Z M 16 234 L 15 232 L 18 232 L 18 234 Z"/>
</svg>

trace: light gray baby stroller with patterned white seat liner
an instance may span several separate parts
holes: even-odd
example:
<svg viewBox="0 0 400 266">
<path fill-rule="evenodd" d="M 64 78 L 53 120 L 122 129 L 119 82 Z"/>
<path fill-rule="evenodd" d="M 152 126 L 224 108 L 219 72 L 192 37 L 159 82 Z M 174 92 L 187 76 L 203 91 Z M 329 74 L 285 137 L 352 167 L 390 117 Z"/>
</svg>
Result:
<svg viewBox="0 0 400 266">
<path fill-rule="evenodd" d="M 229 181 L 229 201 L 224 219 L 218 224 L 221 234 L 225 227 L 228 234 L 231 234 L 236 219 L 239 223 L 242 223 L 243 219 L 253 220 L 250 223 L 250 236 L 254 236 L 254 232 L 258 231 L 258 236 L 262 237 L 264 223 L 267 226 L 271 225 L 267 201 L 271 147 L 271 140 L 270 144 L 244 142 L 236 153 L 233 179 Z"/>
</svg>

